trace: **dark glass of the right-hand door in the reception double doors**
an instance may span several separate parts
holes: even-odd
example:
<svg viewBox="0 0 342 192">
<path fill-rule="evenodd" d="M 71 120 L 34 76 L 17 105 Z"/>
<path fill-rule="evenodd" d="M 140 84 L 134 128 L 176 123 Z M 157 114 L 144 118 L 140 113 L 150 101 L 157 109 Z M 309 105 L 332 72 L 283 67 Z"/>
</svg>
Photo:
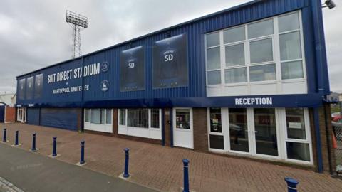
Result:
<svg viewBox="0 0 342 192">
<path fill-rule="evenodd" d="M 279 156 L 274 108 L 254 109 L 254 138 L 256 154 Z"/>
</svg>

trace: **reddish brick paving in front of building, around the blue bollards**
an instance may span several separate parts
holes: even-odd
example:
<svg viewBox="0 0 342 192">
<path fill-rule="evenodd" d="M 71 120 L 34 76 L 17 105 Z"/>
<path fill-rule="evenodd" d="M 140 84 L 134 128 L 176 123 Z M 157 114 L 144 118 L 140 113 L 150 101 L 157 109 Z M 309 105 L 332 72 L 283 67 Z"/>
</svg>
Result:
<svg viewBox="0 0 342 192">
<path fill-rule="evenodd" d="M 286 191 L 284 178 L 299 181 L 299 191 L 342 191 L 342 180 L 328 174 L 278 166 L 250 159 L 217 156 L 188 149 L 129 141 L 95 134 L 79 134 L 63 129 L 27 124 L 0 124 L 8 129 L 9 142 L 14 144 L 14 132 L 19 130 L 18 146 L 31 148 L 32 133 L 37 133 L 37 154 L 52 152 L 52 137 L 57 137 L 56 159 L 76 164 L 80 159 L 80 141 L 86 141 L 85 169 L 119 176 L 123 172 L 125 147 L 130 148 L 129 181 L 159 191 L 180 191 L 182 159 L 190 160 L 190 190 L 194 191 Z M 3 154 L 1 154 L 3 155 Z"/>
</svg>

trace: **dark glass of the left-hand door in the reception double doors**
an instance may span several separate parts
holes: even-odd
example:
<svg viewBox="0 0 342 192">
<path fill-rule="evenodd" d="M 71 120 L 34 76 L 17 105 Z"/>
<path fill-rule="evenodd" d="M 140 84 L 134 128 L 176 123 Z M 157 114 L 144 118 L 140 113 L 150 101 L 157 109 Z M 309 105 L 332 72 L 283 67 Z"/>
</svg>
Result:
<svg viewBox="0 0 342 192">
<path fill-rule="evenodd" d="M 249 153 L 249 130 L 246 108 L 229 108 L 230 150 Z"/>
</svg>

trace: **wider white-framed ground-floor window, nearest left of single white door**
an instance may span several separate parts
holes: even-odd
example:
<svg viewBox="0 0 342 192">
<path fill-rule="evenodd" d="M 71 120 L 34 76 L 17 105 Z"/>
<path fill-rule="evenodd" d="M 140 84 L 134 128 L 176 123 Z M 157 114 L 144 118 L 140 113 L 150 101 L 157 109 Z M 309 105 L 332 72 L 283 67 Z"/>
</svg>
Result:
<svg viewBox="0 0 342 192">
<path fill-rule="evenodd" d="M 119 134 L 162 139 L 160 109 L 119 109 L 118 114 Z"/>
</svg>

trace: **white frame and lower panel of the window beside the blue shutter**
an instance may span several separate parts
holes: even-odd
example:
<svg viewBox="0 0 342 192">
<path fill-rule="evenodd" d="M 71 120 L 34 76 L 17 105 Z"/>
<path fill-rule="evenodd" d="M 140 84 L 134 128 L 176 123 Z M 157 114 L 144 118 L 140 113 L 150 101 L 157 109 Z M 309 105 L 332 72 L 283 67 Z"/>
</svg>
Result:
<svg viewBox="0 0 342 192">
<path fill-rule="evenodd" d="M 94 108 L 95 109 L 95 108 Z M 95 132 L 108 132 L 113 133 L 113 109 L 108 108 L 96 108 L 98 110 L 105 110 L 104 112 L 104 124 L 92 123 L 91 122 L 91 108 L 84 109 L 84 118 L 83 118 L 83 128 L 85 130 L 95 131 Z M 89 122 L 86 122 L 86 110 L 89 110 Z M 112 121 L 110 124 L 107 123 L 107 110 L 110 110 L 110 117 Z"/>
</svg>

